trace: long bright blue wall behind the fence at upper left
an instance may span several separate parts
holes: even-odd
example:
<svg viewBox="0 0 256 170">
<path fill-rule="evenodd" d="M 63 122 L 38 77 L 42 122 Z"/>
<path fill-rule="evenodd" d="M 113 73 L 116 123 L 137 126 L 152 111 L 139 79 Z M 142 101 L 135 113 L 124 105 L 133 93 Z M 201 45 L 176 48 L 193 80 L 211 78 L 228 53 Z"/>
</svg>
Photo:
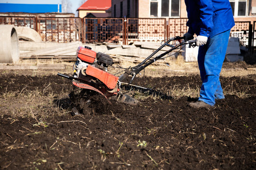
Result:
<svg viewBox="0 0 256 170">
<path fill-rule="evenodd" d="M 58 4 L 0 3 L 0 12 L 29 12 L 29 13 L 58 12 Z M 61 4 L 59 5 L 59 12 L 61 12 Z"/>
</svg>

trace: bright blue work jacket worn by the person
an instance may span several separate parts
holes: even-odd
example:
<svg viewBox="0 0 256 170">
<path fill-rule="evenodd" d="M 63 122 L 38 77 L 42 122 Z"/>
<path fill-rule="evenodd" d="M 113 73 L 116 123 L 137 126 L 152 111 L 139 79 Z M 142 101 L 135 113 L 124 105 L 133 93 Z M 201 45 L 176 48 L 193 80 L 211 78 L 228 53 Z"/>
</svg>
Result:
<svg viewBox="0 0 256 170">
<path fill-rule="evenodd" d="M 185 0 L 188 33 L 209 38 L 235 26 L 229 0 Z"/>
</svg>

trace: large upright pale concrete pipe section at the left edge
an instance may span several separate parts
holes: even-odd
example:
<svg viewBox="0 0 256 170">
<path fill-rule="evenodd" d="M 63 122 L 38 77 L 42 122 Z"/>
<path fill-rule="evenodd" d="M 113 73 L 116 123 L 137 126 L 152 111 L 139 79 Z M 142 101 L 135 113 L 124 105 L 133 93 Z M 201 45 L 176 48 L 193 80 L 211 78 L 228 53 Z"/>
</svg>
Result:
<svg viewBox="0 0 256 170">
<path fill-rule="evenodd" d="M 19 61 L 18 34 L 12 25 L 0 25 L 0 63 Z"/>
</svg>

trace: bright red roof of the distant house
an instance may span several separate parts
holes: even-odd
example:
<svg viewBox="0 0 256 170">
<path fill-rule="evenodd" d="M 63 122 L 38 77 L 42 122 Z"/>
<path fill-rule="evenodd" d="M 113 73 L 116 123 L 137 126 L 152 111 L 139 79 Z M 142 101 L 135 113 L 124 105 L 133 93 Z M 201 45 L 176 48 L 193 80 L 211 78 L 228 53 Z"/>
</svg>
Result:
<svg viewBox="0 0 256 170">
<path fill-rule="evenodd" d="M 111 0 L 87 0 L 77 10 L 107 10 L 111 7 Z"/>
</svg>

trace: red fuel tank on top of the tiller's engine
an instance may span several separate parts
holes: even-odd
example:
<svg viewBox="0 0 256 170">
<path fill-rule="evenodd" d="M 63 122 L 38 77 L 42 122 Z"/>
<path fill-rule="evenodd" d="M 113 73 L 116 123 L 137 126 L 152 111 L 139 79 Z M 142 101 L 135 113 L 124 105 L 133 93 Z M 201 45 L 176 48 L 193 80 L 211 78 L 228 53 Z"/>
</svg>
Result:
<svg viewBox="0 0 256 170">
<path fill-rule="evenodd" d="M 78 47 L 76 50 L 76 56 L 82 61 L 93 63 L 96 59 L 97 53 L 87 48 Z"/>
</svg>

